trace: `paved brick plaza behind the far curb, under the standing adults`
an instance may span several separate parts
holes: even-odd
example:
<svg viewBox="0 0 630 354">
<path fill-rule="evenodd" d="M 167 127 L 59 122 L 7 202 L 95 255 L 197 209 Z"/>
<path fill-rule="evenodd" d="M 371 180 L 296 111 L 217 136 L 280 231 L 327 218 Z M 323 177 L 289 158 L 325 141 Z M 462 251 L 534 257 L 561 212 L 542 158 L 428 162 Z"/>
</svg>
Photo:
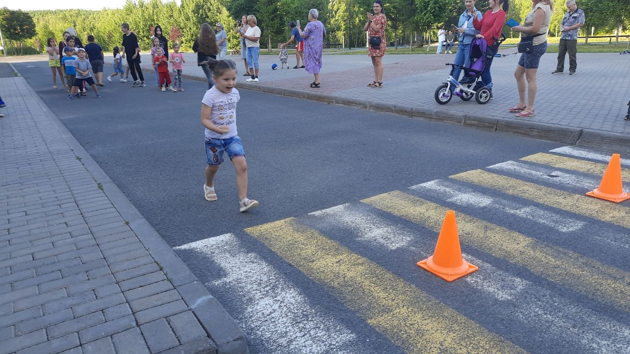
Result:
<svg viewBox="0 0 630 354">
<path fill-rule="evenodd" d="M 514 49 L 501 51 L 513 53 Z M 443 110 L 456 115 L 482 115 L 510 118 L 527 122 L 550 123 L 566 127 L 588 128 L 605 132 L 630 134 L 626 115 L 630 100 L 630 55 L 617 53 L 580 53 L 575 76 L 551 75 L 556 69 L 557 54 L 542 56 L 537 75 L 536 117 L 515 118 L 507 108 L 518 103 L 518 91 L 513 72 L 520 54 L 496 58 L 492 65 L 495 83 L 494 98 L 486 105 L 478 105 L 474 99 L 468 102 L 453 98 L 440 106 L 433 99 L 435 89 L 445 81 L 455 54 L 385 55 L 384 86 L 368 88 L 372 81 L 372 64 L 367 55 L 324 55 L 320 89 L 309 88 L 313 77 L 304 69 L 278 69 L 277 55 L 260 56 L 260 86 L 303 89 L 304 91 L 333 94 L 341 98 L 353 98 L 374 102 L 401 104 Z M 185 54 L 184 73 L 203 76 L 197 67 L 195 54 Z M 227 58 L 237 61 L 239 73 L 244 72 L 243 60 L 236 56 Z M 107 60 L 111 60 L 107 58 Z M 568 59 L 567 59 L 568 60 Z M 142 57 L 142 66 L 151 70 L 148 55 Z M 295 57 L 289 57 L 290 67 Z M 243 80 L 241 80 L 241 78 Z M 239 76 L 239 81 L 246 77 Z M 153 82 L 152 74 L 146 74 L 147 83 Z"/>
</svg>

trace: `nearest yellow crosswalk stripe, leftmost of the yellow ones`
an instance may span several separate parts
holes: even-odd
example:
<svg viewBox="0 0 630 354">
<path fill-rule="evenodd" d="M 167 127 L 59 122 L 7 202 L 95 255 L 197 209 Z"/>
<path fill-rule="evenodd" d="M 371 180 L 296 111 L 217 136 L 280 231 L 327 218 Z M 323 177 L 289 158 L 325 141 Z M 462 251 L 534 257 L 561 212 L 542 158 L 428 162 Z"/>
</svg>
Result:
<svg viewBox="0 0 630 354">
<path fill-rule="evenodd" d="M 309 278 L 323 283 L 370 326 L 408 353 L 525 353 L 373 261 L 293 218 L 245 231 Z"/>
</svg>

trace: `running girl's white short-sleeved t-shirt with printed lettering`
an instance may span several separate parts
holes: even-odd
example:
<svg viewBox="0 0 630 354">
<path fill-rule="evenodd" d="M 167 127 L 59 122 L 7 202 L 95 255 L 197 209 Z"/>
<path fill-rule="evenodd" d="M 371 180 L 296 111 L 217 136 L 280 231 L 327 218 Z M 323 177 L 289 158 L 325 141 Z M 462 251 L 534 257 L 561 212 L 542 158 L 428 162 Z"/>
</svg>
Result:
<svg viewBox="0 0 630 354">
<path fill-rule="evenodd" d="M 210 139 L 227 139 L 238 135 L 236 131 L 236 103 L 241 100 L 238 89 L 232 88 L 230 93 L 222 93 L 217 86 L 205 91 L 201 102 L 212 108 L 210 122 L 215 126 L 226 125 L 230 128 L 227 134 L 215 133 L 205 128 L 205 137 Z"/>
</svg>

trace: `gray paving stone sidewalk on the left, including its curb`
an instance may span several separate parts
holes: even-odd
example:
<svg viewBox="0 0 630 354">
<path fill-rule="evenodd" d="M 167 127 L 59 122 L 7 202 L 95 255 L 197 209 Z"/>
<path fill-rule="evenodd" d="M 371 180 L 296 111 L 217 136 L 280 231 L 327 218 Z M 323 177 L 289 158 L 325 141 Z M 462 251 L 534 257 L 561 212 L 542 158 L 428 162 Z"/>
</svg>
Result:
<svg viewBox="0 0 630 354">
<path fill-rule="evenodd" d="M 248 353 L 23 77 L 0 94 L 0 354 Z"/>
</svg>

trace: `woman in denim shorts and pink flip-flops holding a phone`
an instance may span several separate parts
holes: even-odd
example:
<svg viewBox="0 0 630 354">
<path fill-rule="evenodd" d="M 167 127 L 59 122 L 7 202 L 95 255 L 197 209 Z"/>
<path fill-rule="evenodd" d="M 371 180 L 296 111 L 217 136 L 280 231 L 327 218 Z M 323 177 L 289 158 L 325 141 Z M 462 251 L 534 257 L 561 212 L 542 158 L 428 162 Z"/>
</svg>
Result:
<svg viewBox="0 0 630 354">
<path fill-rule="evenodd" d="M 553 1 L 532 0 L 532 11 L 525 17 L 522 26 L 512 27 L 513 31 L 523 33 L 532 38 L 532 50 L 520 55 L 518 66 L 514 71 L 518 86 L 518 105 L 510 108 L 518 112 L 517 117 L 534 117 L 534 98 L 536 98 L 536 72 L 542 54 L 547 51 L 547 30 L 553 13 Z M 525 104 L 525 84 L 527 84 L 527 104 Z"/>
</svg>

